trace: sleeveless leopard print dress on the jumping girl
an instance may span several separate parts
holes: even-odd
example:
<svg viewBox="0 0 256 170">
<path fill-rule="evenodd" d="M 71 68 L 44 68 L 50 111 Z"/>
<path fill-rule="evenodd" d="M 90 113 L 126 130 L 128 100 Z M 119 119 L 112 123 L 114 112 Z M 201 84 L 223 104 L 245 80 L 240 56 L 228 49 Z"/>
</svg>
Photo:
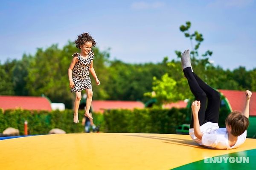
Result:
<svg viewBox="0 0 256 170">
<path fill-rule="evenodd" d="M 77 57 L 78 61 L 72 70 L 72 79 L 75 83 L 75 87 L 71 88 L 71 92 L 79 92 L 84 89 L 92 89 L 92 82 L 90 80 L 90 65 L 94 58 L 94 53 L 91 50 L 89 57 L 84 59 L 79 53 L 73 54 L 73 57 Z"/>
</svg>

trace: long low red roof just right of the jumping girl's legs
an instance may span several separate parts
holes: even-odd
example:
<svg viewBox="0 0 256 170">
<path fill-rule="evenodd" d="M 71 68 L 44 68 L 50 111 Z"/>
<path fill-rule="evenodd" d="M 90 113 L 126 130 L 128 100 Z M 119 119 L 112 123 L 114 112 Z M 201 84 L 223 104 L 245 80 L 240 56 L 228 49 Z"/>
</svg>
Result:
<svg viewBox="0 0 256 170">
<path fill-rule="evenodd" d="M 93 100 L 93 112 L 103 113 L 105 109 L 130 109 L 144 108 L 143 102 L 136 101 L 114 101 L 114 100 Z"/>
</svg>

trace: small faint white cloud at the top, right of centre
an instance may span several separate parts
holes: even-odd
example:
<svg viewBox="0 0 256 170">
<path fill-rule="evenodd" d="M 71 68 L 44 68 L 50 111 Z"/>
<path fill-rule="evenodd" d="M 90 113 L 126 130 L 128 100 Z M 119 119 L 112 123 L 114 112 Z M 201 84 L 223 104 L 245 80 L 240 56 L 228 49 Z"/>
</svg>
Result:
<svg viewBox="0 0 256 170">
<path fill-rule="evenodd" d="M 163 2 L 152 2 L 152 3 L 147 3 L 144 1 L 141 2 L 134 2 L 131 4 L 132 9 L 157 9 L 157 8 L 162 8 L 164 6 Z"/>
</svg>

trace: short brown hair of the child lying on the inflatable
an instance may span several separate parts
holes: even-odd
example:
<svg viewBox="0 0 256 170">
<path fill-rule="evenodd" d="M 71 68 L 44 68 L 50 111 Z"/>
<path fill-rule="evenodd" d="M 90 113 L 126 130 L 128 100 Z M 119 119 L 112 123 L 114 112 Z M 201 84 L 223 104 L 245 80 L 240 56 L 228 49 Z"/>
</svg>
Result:
<svg viewBox="0 0 256 170">
<path fill-rule="evenodd" d="M 249 120 L 239 111 L 231 112 L 226 118 L 226 125 L 231 126 L 231 134 L 234 136 L 239 136 L 247 129 L 249 126 Z"/>
</svg>

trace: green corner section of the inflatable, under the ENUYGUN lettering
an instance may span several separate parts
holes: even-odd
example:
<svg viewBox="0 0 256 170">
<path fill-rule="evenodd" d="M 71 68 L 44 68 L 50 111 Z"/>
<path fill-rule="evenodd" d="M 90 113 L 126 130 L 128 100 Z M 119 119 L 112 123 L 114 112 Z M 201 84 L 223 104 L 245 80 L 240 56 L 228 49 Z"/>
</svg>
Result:
<svg viewBox="0 0 256 170">
<path fill-rule="evenodd" d="M 224 161 L 224 159 L 226 159 L 226 161 Z M 239 163 L 240 161 L 241 163 Z M 256 169 L 256 149 L 244 150 L 241 152 L 215 156 L 215 162 L 214 162 L 214 157 L 211 160 L 203 159 L 201 161 L 196 161 L 190 164 L 176 167 L 173 170 L 255 170 L 255 169 Z"/>
</svg>

